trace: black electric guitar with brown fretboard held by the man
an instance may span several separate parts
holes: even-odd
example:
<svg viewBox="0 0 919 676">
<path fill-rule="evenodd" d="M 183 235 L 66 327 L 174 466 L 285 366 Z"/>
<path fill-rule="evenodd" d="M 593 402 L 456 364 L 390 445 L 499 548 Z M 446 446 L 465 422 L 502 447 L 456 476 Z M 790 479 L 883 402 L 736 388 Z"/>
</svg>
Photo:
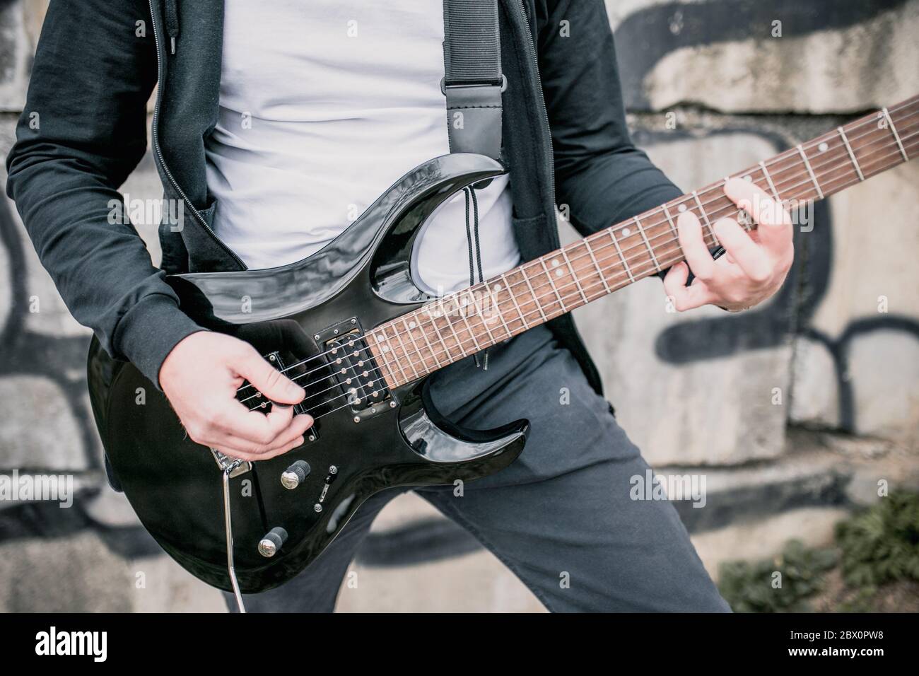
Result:
<svg viewBox="0 0 919 676">
<path fill-rule="evenodd" d="M 917 155 L 912 97 L 734 176 L 788 204 L 821 200 Z M 743 216 L 720 181 L 469 289 L 426 295 L 411 274 L 425 219 L 504 172 L 482 155 L 437 157 L 310 258 L 167 278 L 187 315 L 247 340 L 306 390 L 296 412 L 315 424 L 289 453 L 247 463 L 200 447 L 165 396 L 94 339 L 88 382 L 109 461 L 144 527 L 182 567 L 237 595 L 267 590 L 319 556 L 373 493 L 469 481 L 511 464 L 528 421 L 459 430 L 428 405 L 426 376 L 683 260 L 680 212 L 696 213 L 709 246 L 718 246 L 718 218 Z M 238 398 L 272 406 L 249 384 Z"/>
</svg>

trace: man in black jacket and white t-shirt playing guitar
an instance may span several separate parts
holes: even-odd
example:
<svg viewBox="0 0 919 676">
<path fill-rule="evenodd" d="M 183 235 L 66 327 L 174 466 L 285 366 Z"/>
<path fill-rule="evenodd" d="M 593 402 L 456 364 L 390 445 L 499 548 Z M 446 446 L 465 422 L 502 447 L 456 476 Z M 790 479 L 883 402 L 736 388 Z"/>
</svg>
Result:
<svg viewBox="0 0 919 676">
<path fill-rule="evenodd" d="M 448 152 L 440 5 L 51 1 L 7 159 L 8 192 L 74 316 L 162 388 L 203 446 L 267 459 L 300 445 L 312 419 L 289 407 L 246 412 L 233 398 L 243 379 L 280 404 L 303 392 L 246 343 L 196 326 L 165 272 L 304 258 L 392 180 Z M 415 273 L 433 290 L 463 288 L 470 272 L 487 279 L 557 248 L 556 202 L 588 235 L 680 194 L 630 142 L 602 0 L 501 0 L 500 9 L 509 179 L 478 191 L 480 241 L 463 222 L 469 195 L 431 219 Z M 157 79 L 153 155 L 166 198 L 191 211 L 181 228 L 161 227 L 162 269 L 130 226 L 107 218 L 142 157 Z M 29 123 L 32 112 L 39 125 Z M 728 192 L 735 201 L 765 198 L 743 182 Z M 695 280 L 686 286 L 686 264 L 667 273 L 677 309 L 743 309 L 784 280 L 787 220 L 760 223 L 757 239 L 720 221 L 728 255 L 718 260 L 698 220 L 683 214 L 678 224 Z M 478 259 L 471 270 L 467 251 Z M 561 388 L 568 406 L 559 404 Z M 630 477 L 647 465 L 618 428 L 570 317 L 494 347 L 487 369 L 468 358 L 438 372 L 431 394 L 467 428 L 531 420 L 515 464 L 462 496 L 452 487 L 418 493 L 550 610 L 729 610 L 673 506 L 630 500 Z M 248 597 L 249 609 L 331 611 L 371 521 L 400 492 L 370 498 L 301 576 Z"/>
</svg>

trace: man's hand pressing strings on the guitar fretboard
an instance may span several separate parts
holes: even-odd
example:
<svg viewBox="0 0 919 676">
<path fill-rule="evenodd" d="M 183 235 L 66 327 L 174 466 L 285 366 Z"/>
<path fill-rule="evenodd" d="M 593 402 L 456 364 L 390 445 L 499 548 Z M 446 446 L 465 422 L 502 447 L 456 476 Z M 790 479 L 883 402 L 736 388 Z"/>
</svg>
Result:
<svg viewBox="0 0 919 676">
<path fill-rule="evenodd" d="M 679 312 L 707 304 L 745 310 L 777 292 L 789 273 L 794 257 L 789 213 L 750 181 L 732 178 L 724 193 L 758 227 L 747 233 L 732 218 L 714 223 L 715 236 L 727 252 L 715 260 L 702 239 L 702 224 L 696 215 L 680 214 L 676 227 L 686 261 L 677 263 L 664 277 L 664 289 Z M 686 286 L 690 269 L 696 278 Z"/>
</svg>

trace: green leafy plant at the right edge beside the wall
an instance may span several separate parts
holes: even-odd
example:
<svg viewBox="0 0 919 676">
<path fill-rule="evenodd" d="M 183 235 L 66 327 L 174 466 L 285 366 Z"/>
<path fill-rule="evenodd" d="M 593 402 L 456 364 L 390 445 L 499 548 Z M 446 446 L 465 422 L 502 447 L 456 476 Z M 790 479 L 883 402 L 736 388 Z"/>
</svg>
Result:
<svg viewBox="0 0 919 676">
<path fill-rule="evenodd" d="M 845 583 L 919 581 L 919 494 L 898 493 L 836 526 Z"/>
</svg>

